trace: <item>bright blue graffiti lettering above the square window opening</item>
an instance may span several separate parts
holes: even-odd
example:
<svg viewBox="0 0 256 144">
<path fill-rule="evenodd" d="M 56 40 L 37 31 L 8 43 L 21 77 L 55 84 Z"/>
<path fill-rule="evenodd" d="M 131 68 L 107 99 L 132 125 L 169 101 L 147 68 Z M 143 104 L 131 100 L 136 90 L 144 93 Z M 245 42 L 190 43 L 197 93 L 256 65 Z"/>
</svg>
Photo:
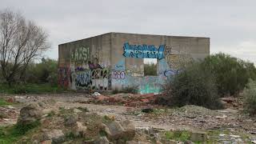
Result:
<svg viewBox="0 0 256 144">
<path fill-rule="evenodd" d="M 123 46 L 123 56 L 127 58 L 158 58 L 159 60 L 164 58 L 165 45 L 160 45 L 156 48 L 154 45 L 129 45 L 126 42 Z"/>
</svg>

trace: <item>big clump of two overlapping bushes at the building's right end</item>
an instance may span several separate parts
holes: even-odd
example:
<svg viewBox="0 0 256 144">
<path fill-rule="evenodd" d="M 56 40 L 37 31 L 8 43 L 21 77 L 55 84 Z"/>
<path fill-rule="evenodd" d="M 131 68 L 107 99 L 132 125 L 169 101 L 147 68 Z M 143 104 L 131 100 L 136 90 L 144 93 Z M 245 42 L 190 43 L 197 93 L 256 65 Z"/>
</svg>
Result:
<svg viewBox="0 0 256 144">
<path fill-rule="evenodd" d="M 228 54 L 210 55 L 183 67 L 179 74 L 170 78 L 164 86 L 165 96 L 156 102 L 168 106 L 196 105 L 220 109 L 219 97 L 237 96 L 250 78 L 256 78 L 253 63 Z"/>
</svg>

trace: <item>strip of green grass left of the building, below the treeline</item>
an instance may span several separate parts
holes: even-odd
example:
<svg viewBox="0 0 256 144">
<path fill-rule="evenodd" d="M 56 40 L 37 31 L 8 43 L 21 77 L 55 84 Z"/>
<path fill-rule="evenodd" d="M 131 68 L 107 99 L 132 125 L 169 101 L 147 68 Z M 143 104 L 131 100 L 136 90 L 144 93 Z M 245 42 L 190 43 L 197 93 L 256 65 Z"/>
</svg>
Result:
<svg viewBox="0 0 256 144">
<path fill-rule="evenodd" d="M 67 90 L 52 86 L 48 83 L 44 84 L 22 84 L 8 86 L 6 84 L 0 84 L 0 94 L 46 94 L 46 93 L 62 93 Z"/>
</svg>

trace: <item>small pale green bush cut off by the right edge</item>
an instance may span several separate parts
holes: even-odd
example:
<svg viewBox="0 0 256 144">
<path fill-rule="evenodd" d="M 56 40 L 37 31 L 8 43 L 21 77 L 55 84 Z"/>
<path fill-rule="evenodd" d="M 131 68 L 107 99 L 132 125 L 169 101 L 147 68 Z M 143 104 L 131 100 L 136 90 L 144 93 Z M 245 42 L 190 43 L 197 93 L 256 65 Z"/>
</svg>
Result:
<svg viewBox="0 0 256 144">
<path fill-rule="evenodd" d="M 246 110 L 252 115 L 256 114 L 256 81 L 250 79 L 245 90 L 243 91 L 245 97 Z"/>
</svg>

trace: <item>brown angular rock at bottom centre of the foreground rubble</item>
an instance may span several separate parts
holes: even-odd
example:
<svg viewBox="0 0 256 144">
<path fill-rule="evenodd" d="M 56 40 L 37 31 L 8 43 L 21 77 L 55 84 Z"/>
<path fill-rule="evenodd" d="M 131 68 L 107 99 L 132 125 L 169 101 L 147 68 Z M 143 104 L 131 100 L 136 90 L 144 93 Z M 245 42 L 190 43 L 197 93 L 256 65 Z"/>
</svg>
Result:
<svg viewBox="0 0 256 144">
<path fill-rule="evenodd" d="M 112 122 L 105 128 L 106 135 L 111 140 L 134 138 L 135 126 L 130 121 Z"/>
</svg>

